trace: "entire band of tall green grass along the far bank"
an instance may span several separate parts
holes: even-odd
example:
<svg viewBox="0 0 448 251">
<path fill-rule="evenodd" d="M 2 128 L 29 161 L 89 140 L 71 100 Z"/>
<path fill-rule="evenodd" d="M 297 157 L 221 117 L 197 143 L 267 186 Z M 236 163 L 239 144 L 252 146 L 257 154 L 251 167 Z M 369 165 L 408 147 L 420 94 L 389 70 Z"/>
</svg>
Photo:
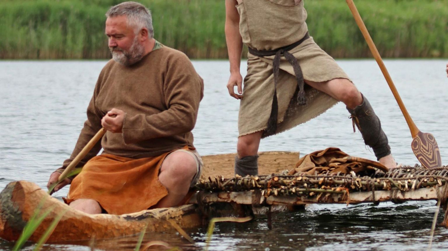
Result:
<svg viewBox="0 0 448 251">
<path fill-rule="evenodd" d="M 119 0 L 0 0 L 0 59 L 106 59 Z M 155 38 L 191 58 L 227 57 L 224 0 L 141 0 Z M 448 57 L 448 0 L 355 0 L 383 57 Z M 305 0 L 310 35 L 337 58 L 370 56 L 344 0 Z"/>
</svg>

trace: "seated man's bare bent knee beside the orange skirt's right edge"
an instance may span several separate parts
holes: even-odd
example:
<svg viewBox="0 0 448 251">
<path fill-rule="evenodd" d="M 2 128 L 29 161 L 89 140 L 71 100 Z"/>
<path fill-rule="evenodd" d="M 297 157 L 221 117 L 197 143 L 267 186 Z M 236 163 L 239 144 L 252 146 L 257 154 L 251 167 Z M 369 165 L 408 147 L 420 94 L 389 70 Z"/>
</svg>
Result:
<svg viewBox="0 0 448 251">
<path fill-rule="evenodd" d="M 198 171 L 196 160 L 186 152 L 177 151 L 170 154 L 160 167 L 159 181 L 168 190 L 168 195 L 155 207 L 177 206 L 187 195 L 191 180 Z"/>
</svg>

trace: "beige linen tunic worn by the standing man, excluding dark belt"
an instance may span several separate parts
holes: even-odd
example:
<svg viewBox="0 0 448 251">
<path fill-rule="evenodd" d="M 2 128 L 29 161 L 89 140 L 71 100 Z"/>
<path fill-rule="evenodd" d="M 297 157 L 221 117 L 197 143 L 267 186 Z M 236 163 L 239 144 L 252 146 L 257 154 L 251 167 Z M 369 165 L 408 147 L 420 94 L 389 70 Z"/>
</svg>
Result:
<svg viewBox="0 0 448 251">
<path fill-rule="evenodd" d="M 303 0 L 238 0 L 240 33 L 243 43 L 257 50 L 275 50 L 303 38 L 308 31 Z M 305 80 L 324 82 L 349 77 L 312 37 L 289 50 L 302 67 Z M 257 57 L 248 53 L 247 75 L 238 117 L 239 136 L 267 128 L 274 95 L 274 56 Z M 305 85 L 306 105 L 298 105 L 297 80 L 293 67 L 282 57 L 277 86 L 278 117 L 275 134 L 289 130 L 324 113 L 337 100 Z M 270 136 L 266 133 L 263 138 Z"/>
</svg>

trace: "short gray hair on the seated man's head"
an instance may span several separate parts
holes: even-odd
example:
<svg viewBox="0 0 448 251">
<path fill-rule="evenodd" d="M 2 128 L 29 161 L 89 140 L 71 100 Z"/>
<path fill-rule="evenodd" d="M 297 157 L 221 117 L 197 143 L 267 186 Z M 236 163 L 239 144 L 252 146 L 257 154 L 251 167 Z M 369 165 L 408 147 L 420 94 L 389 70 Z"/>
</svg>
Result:
<svg viewBox="0 0 448 251">
<path fill-rule="evenodd" d="M 136 2 L 124 2 L 112 6 L 106 13 L 106 17 L 126 16 L 128 27 L 134 27 L 137 34 L 141 29 L 148 29 L 148 37 L 154 37 L 151 12 L 143 4 Z"/>
</svg>

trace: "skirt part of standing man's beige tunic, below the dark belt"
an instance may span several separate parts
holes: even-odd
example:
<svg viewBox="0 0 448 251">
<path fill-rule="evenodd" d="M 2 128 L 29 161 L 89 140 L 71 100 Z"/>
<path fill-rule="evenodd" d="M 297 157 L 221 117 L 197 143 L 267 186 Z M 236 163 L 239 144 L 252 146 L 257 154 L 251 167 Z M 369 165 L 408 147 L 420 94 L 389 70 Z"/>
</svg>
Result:
<svg viewBox="0 0 448 251">
<path fill-rule="evenodd" d="M 289 51 L 300 67 L 305 80 L 325 82 L 332 79 L 349 79 L 336 61 L 323 51 L 312 37 Z M 238 116 L 239 136 L 251 134 L 267 128 L 271 114 L 272 96 L 274 95 L 274 75 L 272 60 L 274 56 L 260 58 L 248 54 L 247 75 L 243 85 L 243 99 Z M 294 95 L 297 80 L 291 64 L 282 57 L 280 75 L 277 86 L 278 125 L 274 134 L 289 130 L 324 113 L 337 103 L 337 100 L 305 85 L 306 105 L 298 105 Z M 271 136 L 263 134 L 263 138 Z"/>
</svg>

